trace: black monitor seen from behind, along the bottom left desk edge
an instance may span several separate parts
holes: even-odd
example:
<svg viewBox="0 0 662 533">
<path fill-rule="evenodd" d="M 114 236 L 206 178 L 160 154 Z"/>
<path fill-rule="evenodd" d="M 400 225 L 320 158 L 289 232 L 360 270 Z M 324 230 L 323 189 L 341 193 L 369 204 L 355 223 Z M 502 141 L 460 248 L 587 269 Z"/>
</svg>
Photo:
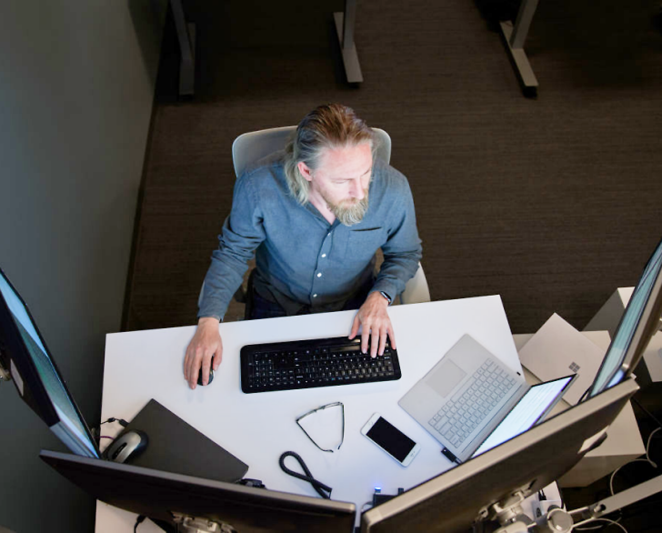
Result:
<svg viewBox="0 0 662 533">
<path fill-rule="evenodd" d="M 239 533 L 352 533 L 354 530 L 354 503 L 46 450 L 42 450 L 40 457 L 93 497 L 167 524 L 175 524 L 175 517 L 181 515 L 229 524 Z"/>
</svg>

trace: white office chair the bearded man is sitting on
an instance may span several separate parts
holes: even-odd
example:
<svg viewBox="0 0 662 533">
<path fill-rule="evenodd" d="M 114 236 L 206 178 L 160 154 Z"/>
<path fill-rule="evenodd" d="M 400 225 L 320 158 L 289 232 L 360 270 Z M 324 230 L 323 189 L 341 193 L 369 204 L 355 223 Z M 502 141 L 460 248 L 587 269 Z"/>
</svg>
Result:
<svg viewBox="0 0 662 533">
<path fill-rule="evenodd" d="M 273 154 L 277 150 L 283 150 L 289 137 L 297 129 L 297 126 L 284 126 L 283 128 L 269 128 L 248 132 L 238 136 L 232 143 L 232 163 L 234 173 L 237 177 L 242 175 L 246 167 L 263 157 Z M 377 137 L 377 152 L 375 157 L 389 163 L 391 161 L 391 137 L 380 128 L 372 128 Z M 240 303 L 246 303 L 246 289 L 239 287 L 234 299 Z M 418 264 L 416 275 L 410 279 L 404 292 L 396 299 L 396 303 L 419 303 L 430 301 L 428 282 L 425 279 L 423 268 Z"/>
</svg>

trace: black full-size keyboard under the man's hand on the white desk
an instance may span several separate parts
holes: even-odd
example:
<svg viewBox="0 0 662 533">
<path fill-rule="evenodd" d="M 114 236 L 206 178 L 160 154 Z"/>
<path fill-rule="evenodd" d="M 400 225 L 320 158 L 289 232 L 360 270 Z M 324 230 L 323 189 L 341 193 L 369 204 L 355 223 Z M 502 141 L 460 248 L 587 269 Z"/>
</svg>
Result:
<svg viewBox="0 0 662 533">
<path fill-rule="evenodd" d="M 368 354 L 370 350 L 368 349 Z M 400 379 L 397 350 L 361 354 L 361 338 L 249 344 L 241 350 L 242 391 L 263 393 Z"/>
</svg>

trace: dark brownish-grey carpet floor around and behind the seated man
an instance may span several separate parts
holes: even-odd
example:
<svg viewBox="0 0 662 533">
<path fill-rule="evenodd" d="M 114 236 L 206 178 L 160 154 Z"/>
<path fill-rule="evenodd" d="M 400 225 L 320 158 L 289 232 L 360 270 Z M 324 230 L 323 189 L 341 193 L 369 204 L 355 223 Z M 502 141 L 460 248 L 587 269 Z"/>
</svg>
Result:
<svg viewBox="0 0 662 533">
<path fill-rule="evenodd" d="M 357 88 L 334 44 L 342 5 L 186 2 L 197 24 L 187 101 L 174 97 L 166 28 L 124 328 L 195 322 L 232 201 L 232 140 L 328 101 L 391 134 L 433 299 L 499 294 L 512 331 L 534 332 L 552 313 L 583 328 L 636 283 L 662 237 L 659 3 L 541 2 L 525 47 L 536 99 L 522 97 L 484 16 L 516 6 L 359 2 Z"/>
</svg>

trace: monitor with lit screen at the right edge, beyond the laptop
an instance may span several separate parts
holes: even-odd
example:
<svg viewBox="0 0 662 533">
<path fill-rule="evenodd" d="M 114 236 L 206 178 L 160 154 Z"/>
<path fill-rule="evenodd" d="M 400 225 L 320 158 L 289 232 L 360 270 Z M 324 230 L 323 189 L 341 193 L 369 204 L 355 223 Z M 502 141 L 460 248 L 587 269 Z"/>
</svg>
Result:
<svg viewBox="0 0 662 533">
<path fill-rule="evenodd" d="M 662 313 L 662 241 L 648 260 L 587 397 L 619 383 L 634 371 Z"/>
</svg>

